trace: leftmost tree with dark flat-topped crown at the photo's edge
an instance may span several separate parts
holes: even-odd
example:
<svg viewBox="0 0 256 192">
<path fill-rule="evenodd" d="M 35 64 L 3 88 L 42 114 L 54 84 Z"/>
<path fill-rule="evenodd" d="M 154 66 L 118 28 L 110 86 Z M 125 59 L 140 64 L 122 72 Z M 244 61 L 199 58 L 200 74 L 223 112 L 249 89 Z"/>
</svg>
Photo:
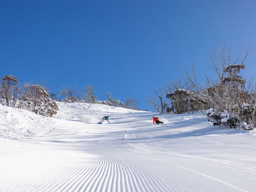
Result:
<svg viewBox="0 0 256 192">
<path fill-rule="evenodd" d="M 15 76 L 3 76 L 2 86 L 0 87 L 1 104 L 15 107 L 18 96 L 18 79 Z"/>
</svg>

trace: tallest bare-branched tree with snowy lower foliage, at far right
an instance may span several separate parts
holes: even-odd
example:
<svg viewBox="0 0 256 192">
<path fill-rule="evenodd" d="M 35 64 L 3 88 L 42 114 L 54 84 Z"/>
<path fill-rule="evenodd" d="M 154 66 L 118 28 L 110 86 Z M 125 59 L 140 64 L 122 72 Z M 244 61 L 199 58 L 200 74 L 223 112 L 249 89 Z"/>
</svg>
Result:
<svg viewBox="0 0 256 192">
<path fill-rule="evenodd" d="M 207 96 L 207 102 L 210 107 L 215 111 L 215 124 L 228 125 L 230 127 L 241 127 L 240 125 L 247 123 L 249 127 L 255 126 L 252 124 L 255 119 L 252 111 L 255 106 L 255 99 L 253 99 L 252 94 L 248 92 L 248 89 L 245 87 L 246 78 L 240 76 L 241 70 L 244 70 L 245 59 L 249 54 L 249 48 L 244 54 L 244 57 L 241 58 L 244 50 L 242 49 L 239 52 L 239 55 L 232 60 L 231 58 L 231 47 L 226 49 L 226 47 L 219 48 L 219 54 L 212 54 L 212 68 L 218 79 L 214 80 L 212 77 L 206 75 L 206 87 L 201 87 L 198 83 L 198 80 L 195 76 L 195 69 L 193 66 L 193 78 L 189 76 L 189 73 L 186 72 L 186 77 L 190 84 L 195 87 L 195 90 L 201 96 Z M 245 110 L 244 104 L 250 102 L 250 110 Z M 247 108 L 247 107 L 246 107 Z M 250 112 L 250 118 L 245 115 L 245 111 Z M 222 120 L 221 113 L 227 113 L 229 116 L 226 120 Z M 244 115 L 243 115 L 244 114 Z M 246 117 L 247 116 L 247 117 Z M 211 116 L 212 118 L 213 116 Z"/>
</svg>

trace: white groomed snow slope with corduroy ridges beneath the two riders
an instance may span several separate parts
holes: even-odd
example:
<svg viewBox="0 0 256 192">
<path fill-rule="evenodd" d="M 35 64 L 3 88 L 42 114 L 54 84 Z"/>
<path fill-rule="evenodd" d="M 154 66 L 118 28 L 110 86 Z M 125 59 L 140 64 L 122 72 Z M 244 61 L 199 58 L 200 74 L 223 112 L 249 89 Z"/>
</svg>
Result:
<svg viewBox="0 0 256 192">
<path fill-rule="evenodd" d="M 255 131 L 201 112 L 57 105 L 52 118 L 0 105 L 1 192 L 255 191 Z"/>
</svg>

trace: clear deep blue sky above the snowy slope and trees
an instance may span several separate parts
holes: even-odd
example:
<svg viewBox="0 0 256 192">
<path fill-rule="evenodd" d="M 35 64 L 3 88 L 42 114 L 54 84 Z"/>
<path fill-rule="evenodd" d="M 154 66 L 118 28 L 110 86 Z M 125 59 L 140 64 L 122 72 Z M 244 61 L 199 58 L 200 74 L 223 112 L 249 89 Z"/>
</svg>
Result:
<svg viewBox="0 0 256 192">
<path fill-rule="evenodd" d="M 183 79 L 183 67 L 204 79 L 218 45 L 256 45 L 255 0 L 1 0 L 0 76 L 20 83 L 93 84 L 140 109 L 154 89 Z M 256 47 L 245 74 L 256 71 Z"/>
</svg>

